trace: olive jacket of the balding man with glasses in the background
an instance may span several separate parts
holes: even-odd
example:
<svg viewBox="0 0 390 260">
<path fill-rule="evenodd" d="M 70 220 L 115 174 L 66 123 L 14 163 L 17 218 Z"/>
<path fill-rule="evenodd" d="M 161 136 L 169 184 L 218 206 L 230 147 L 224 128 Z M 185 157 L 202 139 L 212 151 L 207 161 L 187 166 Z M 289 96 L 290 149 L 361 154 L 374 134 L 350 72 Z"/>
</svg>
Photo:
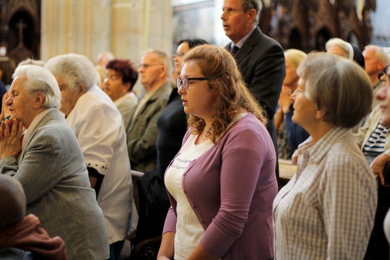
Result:
<svg viewBox="0 0 390 260">
<path fill-rule="evenodd" d="M 128 157 L 133 170 L 145 172 L 156 169 L 157 118 L 166 108 L 171 92 L 171 85 L 166 82 L 150 97 L 134 120 L 133 112 L 126 126 Z"/>
</svg>

